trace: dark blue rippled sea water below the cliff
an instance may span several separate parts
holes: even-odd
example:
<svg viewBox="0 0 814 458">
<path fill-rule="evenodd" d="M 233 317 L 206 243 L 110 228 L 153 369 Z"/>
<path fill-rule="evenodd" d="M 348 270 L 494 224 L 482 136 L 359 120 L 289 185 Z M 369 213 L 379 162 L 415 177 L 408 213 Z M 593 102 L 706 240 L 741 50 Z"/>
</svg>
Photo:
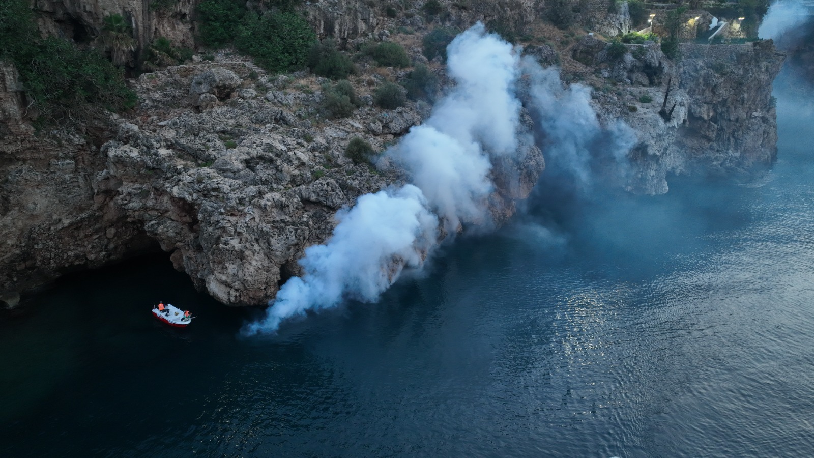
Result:
<svg viewBox="0 0 814 458">
<path fill-rule="evenodd" d="M 66 277 L 0 312 L 0 456 L 812 456 L 814 116 L 779 97 L 767 177 L 543 190 L 278 337 L 165 257 Z"/>
</svg>

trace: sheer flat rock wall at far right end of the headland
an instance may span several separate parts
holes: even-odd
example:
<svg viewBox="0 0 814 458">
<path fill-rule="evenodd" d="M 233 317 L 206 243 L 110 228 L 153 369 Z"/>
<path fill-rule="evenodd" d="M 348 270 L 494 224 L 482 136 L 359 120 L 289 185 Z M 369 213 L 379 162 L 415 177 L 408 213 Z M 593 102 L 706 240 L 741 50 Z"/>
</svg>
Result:
<svg viewBox="0 0 814 458">
<path fill-rule="evenodd" d="M 689 115 L 673 147 L 687 166 L 714 174 L 759 173 L 777 158 L 772 81 L 785 56 L 771 40 L 745 45 L 682 44 L 679 75 Z"/>
</svg>

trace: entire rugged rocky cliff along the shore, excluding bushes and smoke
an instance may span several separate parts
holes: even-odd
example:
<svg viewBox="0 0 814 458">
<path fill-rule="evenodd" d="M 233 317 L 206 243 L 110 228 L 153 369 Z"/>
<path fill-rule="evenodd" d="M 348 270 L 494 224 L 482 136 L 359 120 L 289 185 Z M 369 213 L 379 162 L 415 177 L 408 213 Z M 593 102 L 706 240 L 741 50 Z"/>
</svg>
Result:
<svg viewBox="0 0 814 458">
<path fill-rule="evenodd" d="M 323 35 L 348 42 L 370 35 L 397 39 L 412 59 L 426 61 L 420 38 L 438 24 L 519 24 L 545 9 L 542 2 L 516 3 L 464 8 L 456 2 L 443 18 L 419 15 L 417 6 L 416 13 L 402 9 L 388 18 L 379 11 L 384 5 L 352 0 L 306 9 Z M 43 27 L 75 37 L 85 33 L 78 27 L 98 27 L 112 12 L 136 18 L 142 44 L 157 35 L 184 43 L 194 32 L 194 23 L 185 22 L 194 0 L 170 12 L 120 0 L 37 5 L 48 12 Z M 607 2 L 598 1 L 584 7 L 582 20 L 624 30 L 624 9 L 611 14 Z M 77 23 L 76 17 L 85 19 Z M 409 36 L 388 38 L 387 29 L 399 24 L 412 29 Z M 749 174 L 773 160 L 770 88 L 782 55 L 771 42 L 682 45 L 684 59 L 676 64 L 658 44 L 624 45 L 619 55 L 595 37 L 571 44 L 572 32 L 558 33 L 556 45 L 528 46 L 527 54 L 541 64 L 558 62 L 566 82 L 593 86 L 591 103 L 604 126 L 624 120 L 635 130 L 624 170 L 604 170 L 619 186 L 659 194 L 667 192 L 669 173 Z M 443 65 L 432 66 L 443 77 Z M 15 302 L 16 293 L 65 271 L 160 247 L 221 302 L 265 303 L 299 272 L 304 249 L 330 234 L 337 209 L 404 180 L 386 163 L 354 164 L 344 148 L 358 136 L 383 151 L 427 116 L 427 103 L 374 108 L 374 87 L 405 74 L 362 64 L 352 77 L 361 108 L 347 119 L 326 120 L 316 116 L 326 81 L 305 73 L 269 80 L 243 57 L 219 52 L 213 62 L 198 59 L 133 81 L 140 105 L 125 118 L 100 113 L 85 125 L 35 133 L 14 68 L 0 65 L 0 233 L 6 240 L 0 300 Z M 531 131 L 527 113 L 523 119 Z M 493 164 L 498 189 L 490 207 L 497 222 L 513 213 L 514 200 L 527 196 L 544 168 L 545 152 L 523 149 L 518 159 Z"/>
</svg>

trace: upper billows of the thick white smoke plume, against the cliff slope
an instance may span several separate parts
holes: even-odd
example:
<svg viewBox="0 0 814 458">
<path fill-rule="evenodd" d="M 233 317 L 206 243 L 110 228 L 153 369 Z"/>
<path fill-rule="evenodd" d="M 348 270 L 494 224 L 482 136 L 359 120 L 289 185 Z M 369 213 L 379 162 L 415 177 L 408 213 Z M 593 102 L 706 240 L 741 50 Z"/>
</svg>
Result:
<svg viewBox="0 0 814 458">
<path fill-rule="evenodd" d="M 432 208 L 454 233 L 462 222 L 484 219 L 484 200 L 492 192 L 492 167 L 484 148 L 495 155 L 517 149 L 521 104 L 514 96 L 519 56 L 483 24 L 458 35 L 448 50 L 453 90 L 435 105 L 427 122 L 409 131 L 387 152 L 421 188 Z"/>
</svg>

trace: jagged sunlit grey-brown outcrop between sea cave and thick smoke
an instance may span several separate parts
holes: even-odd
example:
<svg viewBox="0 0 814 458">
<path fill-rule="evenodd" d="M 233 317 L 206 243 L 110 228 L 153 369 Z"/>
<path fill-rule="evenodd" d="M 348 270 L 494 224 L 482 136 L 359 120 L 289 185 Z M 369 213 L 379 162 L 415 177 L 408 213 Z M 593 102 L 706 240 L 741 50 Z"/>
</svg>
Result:
<svg viewBox="0 0 814 458">
<path fill-rule="evenodd" d="M 137 89 L 149 111 L 136 121 L 146 121 L 123 125 L 103 146 L 107 166 L 94 186 L 113 192 L 129 222 L 172 252 L 175 266 L 199 288 L 229 305 L 265 304 L 281 280 L 300 273 L 304 249 L 330 236 L 338 209 L 403 183 L 387 165 L 355 165 L 344 156 L 349 140 L 362 137 L 382 151 L 423 115 L 413 103 L 392 111 L 365 106 L 348 119 L 313 126 L 307 118 L 322 100 L 317 79 L 304 77 L 296 83 L 300 90 L 271 88 L 261 97 L 247 79 L 248 66 L 224 65 L 142 75 Z M 192 87 L 191 94 L 183 87 Z M 212 87 L 223 90 L 225 101 L 195 112 L 197 93 Z M 531 192 L 544 166 L 531 144 L 497 163 L 495 222 L 514 213 L 514 200 Z"/>
</svg>

